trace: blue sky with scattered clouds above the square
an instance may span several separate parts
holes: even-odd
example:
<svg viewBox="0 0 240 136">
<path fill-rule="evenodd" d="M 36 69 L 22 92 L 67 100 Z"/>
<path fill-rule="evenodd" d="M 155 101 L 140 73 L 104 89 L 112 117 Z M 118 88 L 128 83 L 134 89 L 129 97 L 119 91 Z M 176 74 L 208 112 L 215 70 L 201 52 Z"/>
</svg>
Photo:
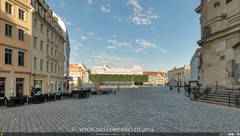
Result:
<svg viewBox="0 0 240 136">
<path fill-rule="evenodd" d="M 167 71 L 189 64 L 200 0 L 46 0 L 67 25 L 71 63 Z"/>
</svg>

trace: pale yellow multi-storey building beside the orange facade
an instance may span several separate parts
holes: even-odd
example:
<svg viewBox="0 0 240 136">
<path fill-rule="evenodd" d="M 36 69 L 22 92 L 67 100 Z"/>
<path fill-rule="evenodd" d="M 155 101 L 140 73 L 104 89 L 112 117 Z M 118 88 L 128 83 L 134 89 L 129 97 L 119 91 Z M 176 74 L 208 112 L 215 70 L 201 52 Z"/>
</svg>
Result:
<svg viewBox="0 0 240 136">
<path fill-rule="evenodd" d="M 42 93 L 63 90 L 64 36 L 59 18 L 44 0 L 32 0 L 31 86 Z"/>
</svg>

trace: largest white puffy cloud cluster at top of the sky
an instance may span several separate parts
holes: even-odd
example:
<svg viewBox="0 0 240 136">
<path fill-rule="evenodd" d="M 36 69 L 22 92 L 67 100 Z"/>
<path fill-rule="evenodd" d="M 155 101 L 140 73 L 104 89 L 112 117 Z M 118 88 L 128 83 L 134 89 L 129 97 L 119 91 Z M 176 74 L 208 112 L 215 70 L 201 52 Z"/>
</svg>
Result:
<svg viewBox="0 0 240 136">
<path fill-rule="evenodd" d="M 144 10 L 138 3 L 138 0 L 129 0 L 127 5 L 133 6 L 133 13 L 128 19 L 137 25 L 150 25 L 152 24 L 152 20 L 158 18 L 157 14 L 153 13 L 153 8 Z"/>
</svg>

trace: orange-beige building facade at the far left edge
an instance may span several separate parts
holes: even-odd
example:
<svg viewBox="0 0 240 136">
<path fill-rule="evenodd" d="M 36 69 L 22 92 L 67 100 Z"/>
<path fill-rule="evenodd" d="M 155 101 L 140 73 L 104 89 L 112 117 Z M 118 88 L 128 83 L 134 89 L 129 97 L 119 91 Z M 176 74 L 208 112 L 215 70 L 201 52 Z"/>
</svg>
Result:
<svg viewBox="0 0 240 136">
<path fill-rule="evenodd" d="M 0 98 L 30 93 L 30 3 L 0 0 Z"/>
</svg>

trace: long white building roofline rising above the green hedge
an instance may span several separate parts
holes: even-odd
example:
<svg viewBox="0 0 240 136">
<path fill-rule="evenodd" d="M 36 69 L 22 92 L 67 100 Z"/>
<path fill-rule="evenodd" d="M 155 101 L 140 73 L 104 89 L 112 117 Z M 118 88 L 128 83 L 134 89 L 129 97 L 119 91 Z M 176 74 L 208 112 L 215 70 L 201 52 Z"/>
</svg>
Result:
<svg viewBox="0 0 240 136">
<path fill-rule="evenodd" d="M 132 69 L 110 68 L 107 65 L 92 67 L 91 74 L 109 74 L 109 75 L 143 75 L 143 69 L 140 66 L 134 66 Z"/>
</svg>

